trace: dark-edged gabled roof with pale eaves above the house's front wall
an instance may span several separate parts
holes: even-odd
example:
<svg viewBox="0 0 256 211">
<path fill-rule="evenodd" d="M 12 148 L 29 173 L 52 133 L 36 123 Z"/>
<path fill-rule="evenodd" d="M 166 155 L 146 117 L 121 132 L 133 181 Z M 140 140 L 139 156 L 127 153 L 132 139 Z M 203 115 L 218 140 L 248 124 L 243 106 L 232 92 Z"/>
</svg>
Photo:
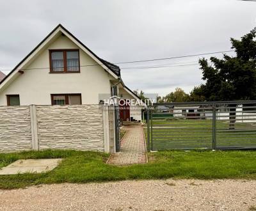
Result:
<svg viewBox="0 0 256 211">
<path fill-rule="evenodd" d="M 18 72 L 20 67 L 24 63 L 28 62 L 28 60 L 31 59 L 31 56 L 32 57 L 34 56 L 33 54 L 35 54 L 36 51 L 40 51 L 40 47 L 42 47 L 42 45 L 45 45 L 45 43 L 50 42 L 51 38 L 53 38 L 59 32 L 63 33 L 68 38 L 70 38 L 70 40 L 72 40 L 74 43 L 76 43 L 84 52 L 86 52 L 89 56 L 91 56 L 107 72 L 109 72 L 111 75 L 113 75 L 113 77 L 115 77 L 116 79 L 118 79 L 120 77 L 120 68 L 118 66 L 116 66 L 104 59 L 99 58 L 99 56 L 97 56 L 90 49 L 88 49 L 88 47 L 86 47 L 86 45 L 84 45 L 80 40 L 78 40 L 74 35 L 72 35 L 72 33 L 70 33 L 65 27 L 63 27 L 61 24 L 59 24 L 51 31 L 51 33 L 49 33 L 49 35 L 47 35 L 44 38 L 44 40 L 42 40 L 42 42 L 40 42 L 38 45 L 36 45 L 35 49 L 33 49 L 31 52 L 29 52 L 29 54 L 24 59 L 22 59 L 22 61 L 20 61 L 20 63 L 17 66 L 15 66 L 15 68 L 13 68 L 13 70 L 8 75 L 6 75 L 6 77 L 4 77 L 4 79 L 2 81 L 0 80 L 0 88 L 1 88 L 1 84 L 3 84 L 4 81 L 8 80 L 13 74 L 15 74 L 15 71 Z"/>
</svg>

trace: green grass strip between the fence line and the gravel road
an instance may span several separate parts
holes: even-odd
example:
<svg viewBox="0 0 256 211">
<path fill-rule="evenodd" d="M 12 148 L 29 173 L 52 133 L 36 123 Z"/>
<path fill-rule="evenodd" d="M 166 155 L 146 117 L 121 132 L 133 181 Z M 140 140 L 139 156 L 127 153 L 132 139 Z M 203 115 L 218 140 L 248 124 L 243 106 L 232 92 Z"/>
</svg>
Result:
<svg viewBox="0 0 256 211">
<path fill-rule="evenodd" d="M 17 159 L 64 158 L 49 173 L 0 175 L 0 188 L 13 189 L 38 184 L 86 183 L 163 178 L 256 179 L 256 151 L 163 151 L 149 153 L 148 164 L 112 166 L 109 155 L 100 152 L 45 150 L 0 153 L 0 168 Z"/>
</svg>

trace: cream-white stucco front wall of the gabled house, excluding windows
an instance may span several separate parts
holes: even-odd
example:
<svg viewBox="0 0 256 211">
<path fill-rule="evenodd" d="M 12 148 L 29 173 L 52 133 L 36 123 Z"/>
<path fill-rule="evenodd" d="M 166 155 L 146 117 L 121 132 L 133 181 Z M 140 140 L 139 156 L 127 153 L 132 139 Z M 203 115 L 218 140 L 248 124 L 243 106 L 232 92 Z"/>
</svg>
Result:
<svg viewBox="0 0 256 211">
<path fill-rule="evenodd" d="M 49 49 L 78 49 L 66 36 L 58 38 L 26 66 L 27 69 L 49 67 Z M 79 49 L 80 65 L 97 64 Z M 24 70 L 9 86 L 0 91 L 0 105 L 7 105 L 6 95 L 20 95 L 20 105 L 51 105 L 51 94 L 81 93 L 82 104 L 98 104 L 99 93 L 110 93 L 108 74 L 101 66 L 81 66 L 81 73 L 49 74 L 49 68 Z"/>
</svg>

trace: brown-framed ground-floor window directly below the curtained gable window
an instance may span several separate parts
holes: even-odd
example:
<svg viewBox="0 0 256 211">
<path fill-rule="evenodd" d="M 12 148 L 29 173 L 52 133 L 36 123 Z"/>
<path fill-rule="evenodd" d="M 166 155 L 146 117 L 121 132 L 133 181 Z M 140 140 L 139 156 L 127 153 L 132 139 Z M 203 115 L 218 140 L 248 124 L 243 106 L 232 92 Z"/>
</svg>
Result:
<svg viewBox="0 0 256 211">
<path fill-rule="evenodd" d="M 81 105 L 81 94 L 52 94 L 52 105 Z"/>
</svg>

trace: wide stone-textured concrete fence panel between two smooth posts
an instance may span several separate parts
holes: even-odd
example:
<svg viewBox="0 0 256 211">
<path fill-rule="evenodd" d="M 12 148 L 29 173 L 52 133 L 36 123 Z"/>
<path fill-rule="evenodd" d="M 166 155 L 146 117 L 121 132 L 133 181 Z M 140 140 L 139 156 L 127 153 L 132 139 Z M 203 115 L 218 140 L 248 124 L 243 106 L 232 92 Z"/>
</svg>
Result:
<svg viewBox="0 0 256 211">
<path fill-rule="evenodd" d="M 104 151 L 103 114 L 99 105 L 38 105 L 39 149 Z"/>
</svg>

